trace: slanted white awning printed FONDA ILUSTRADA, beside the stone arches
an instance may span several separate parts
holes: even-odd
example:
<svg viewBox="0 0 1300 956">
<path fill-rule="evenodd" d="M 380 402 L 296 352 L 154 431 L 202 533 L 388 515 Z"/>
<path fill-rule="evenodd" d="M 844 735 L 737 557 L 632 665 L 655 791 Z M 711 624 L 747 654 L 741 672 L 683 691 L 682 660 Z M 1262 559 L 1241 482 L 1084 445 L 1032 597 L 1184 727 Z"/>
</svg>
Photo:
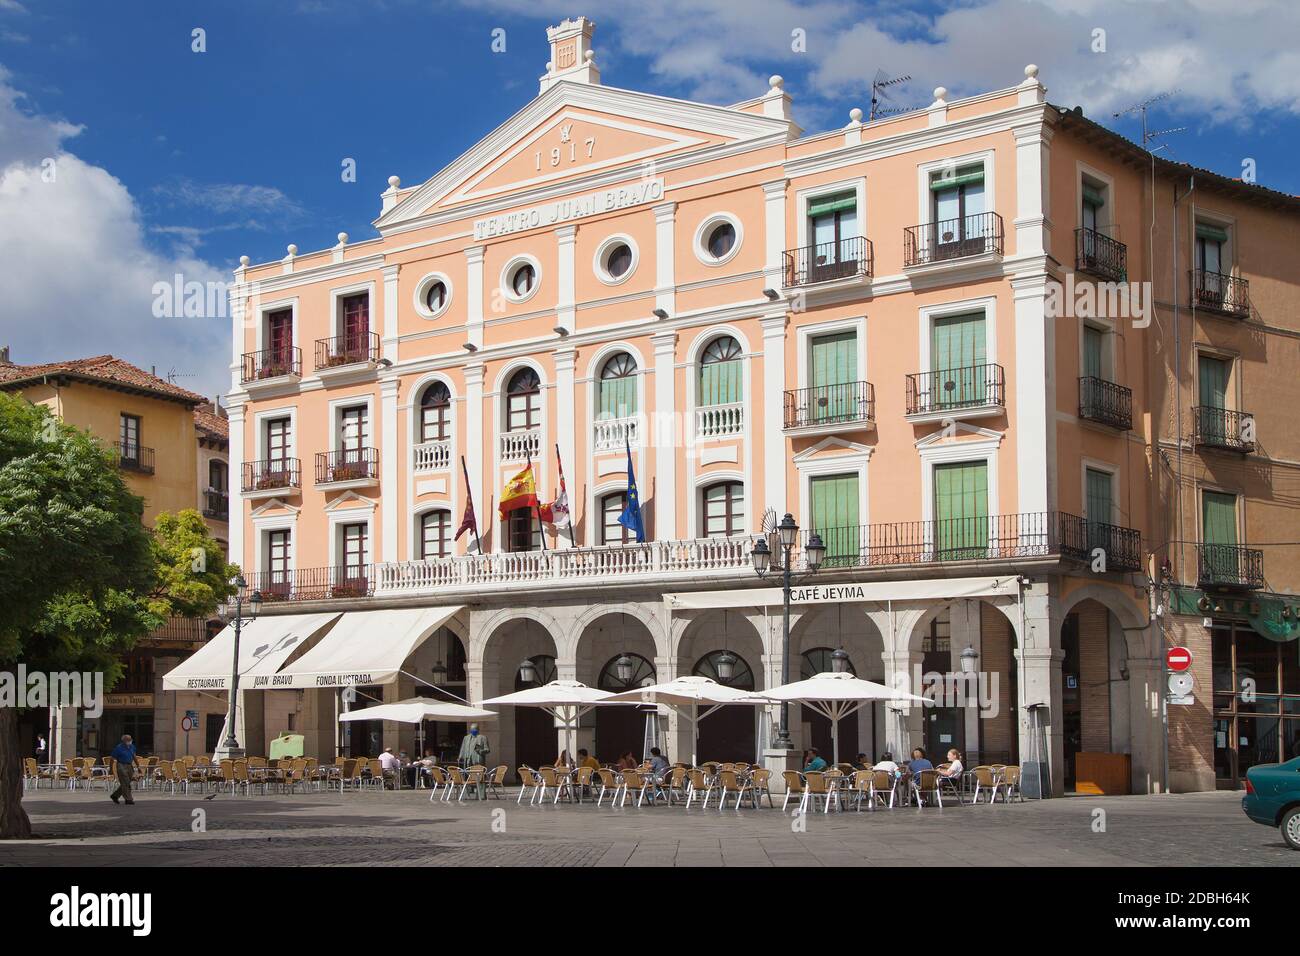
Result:
<svg viewBox="0 0 1300 956">
<path fill-rule="evenodd" d="M 420 644 L 462 610 L 348 611 L 324 640 L 274 678 L 277 688 L 391 684 Z"/>
</svg>

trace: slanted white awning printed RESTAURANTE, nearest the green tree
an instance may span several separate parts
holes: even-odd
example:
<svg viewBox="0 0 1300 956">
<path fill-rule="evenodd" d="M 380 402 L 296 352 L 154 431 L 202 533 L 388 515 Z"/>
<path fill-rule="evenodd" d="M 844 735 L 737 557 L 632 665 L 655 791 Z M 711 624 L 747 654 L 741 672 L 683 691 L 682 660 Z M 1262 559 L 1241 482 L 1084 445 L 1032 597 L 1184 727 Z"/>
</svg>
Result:
<svg viewBox="0 0 1300 956">
<path fill-rule="evenodd" d="M 289 657 L 338 614 L 268 614 L 244 620 L 239 630 L 239 689 L 266 689 Z M 228 624 L 194 654 L 162 676 L 164 691 L 225 691 L 235 628 Z"/>
</svg>

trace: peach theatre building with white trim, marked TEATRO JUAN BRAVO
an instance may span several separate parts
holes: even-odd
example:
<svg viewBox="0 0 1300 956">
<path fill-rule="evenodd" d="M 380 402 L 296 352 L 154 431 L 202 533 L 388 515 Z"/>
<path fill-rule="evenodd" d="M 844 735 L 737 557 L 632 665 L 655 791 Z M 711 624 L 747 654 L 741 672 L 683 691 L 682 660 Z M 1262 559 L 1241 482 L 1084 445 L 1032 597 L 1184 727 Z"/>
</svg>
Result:
<svg viewBox="0 0 1300 956">
<path fill-rule="evenodd" d="M 727 107 L 606 86 L 593 30 L 551 27 L 536 98 L 432 176 L 391 177 L 378 238 L 235 271 L 230 545 L 264 598 L 261 656 L 240 665 L 250 752 L 283 731 L 322 757 L 411 752 L 412 727 L 335 717 L 416 693 L 689 674 L 763 691 L 844 652 L 936 705 L 863 708 L 841 753 L 957 747 L 1050 793 L 1214 786 L 1197 763 L 1212 730 L 1193 726 L 1217 706 L 1208 676 L 1166 754 L 1170 623 L 1201 624 L 1171 588 L 1239 593 L 1199 580 L 1197 555 L 1248 562 L 1266 519 L 1219 481 L 1205 528 L 1180 503 L 1190 544 L 1167 562 L 1157 475 L 1182 438 L 1162 410 L 1190 402 L 1162 364 L 1170 323 L 1130 315 L 1126 284 L 1167 273 L 1158 317 L 1188 308 L 1200 268 L 1231 304 L 1251 250 L 1234 230 L 1294 230 L 1294 206 L 1204 186 L 1228 251 L 1206 260 L 1184 211 L 1174 248 L 1201 265 L 1173 269 L 1170 234 L 1147 235 L 1149 190 L 1174 173 L 1050 104 L 1036 66 L 872 122 L 846 104 L 845 125 L 809 133 L 780 77 Z M 1266 272 L 1294 304 L 1294 277 Z M 1110 310 L 1062 307 L 1067 282 Z M 1190 386 L 1210 389 L 1210 432 L 1238 423 L 1231 376 Z M 530 489 L 512 484 L 525 470 Z M 780 554 L 785 514 L 788 641 L 780 572 L 753 562 L 759 538 Z M 229 679 L 229 644 L 212 648 L 173 680 L 182 710 L 228 689 L 186 684 Z M 792 708 L 789 748 L 779 722 L 724 708 L 701 758 L 784 769 L 829 749 L 818 714 Z M 464 728 L 424 730 L 454 756 Z M 540 711 L 485 732 L 511 766 L 562 747 Z M 650 739 L 692 749 L 634 708 L 578 732 L 602 761 Z"/>
</svg>

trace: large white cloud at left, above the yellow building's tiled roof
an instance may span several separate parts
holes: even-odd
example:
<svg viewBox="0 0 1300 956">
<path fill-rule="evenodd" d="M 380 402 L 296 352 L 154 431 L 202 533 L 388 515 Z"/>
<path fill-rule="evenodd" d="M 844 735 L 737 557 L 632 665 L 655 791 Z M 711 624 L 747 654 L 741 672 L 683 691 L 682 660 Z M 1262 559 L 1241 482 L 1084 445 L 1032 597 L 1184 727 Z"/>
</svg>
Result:
<svg viewBox="0 0 1300 956">
<path fill-rule="evenodd" d="M 229 320 L 152 311 L 156 282 L 229 273 L 185 237 L 155 250 L 126 186 L 65 146 L 81 127 L 25 113 L 21 99 L 0 68 L 0 343 L 22 364 L 112 352 L 160 375 L 176 369 L 195 392 L 229 388 Z"/>
</svg>

